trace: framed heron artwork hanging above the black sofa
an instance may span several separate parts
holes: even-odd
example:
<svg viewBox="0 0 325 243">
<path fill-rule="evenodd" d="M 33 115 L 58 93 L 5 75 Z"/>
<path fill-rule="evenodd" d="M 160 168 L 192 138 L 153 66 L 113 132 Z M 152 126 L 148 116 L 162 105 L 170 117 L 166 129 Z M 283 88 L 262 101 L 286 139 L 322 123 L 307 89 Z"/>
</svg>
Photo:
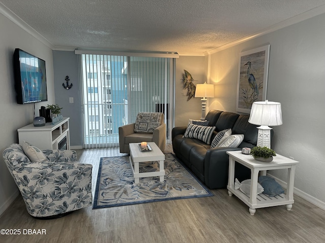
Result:
<svg viewBox="0 0 325 243">
<path fill-rule="evenodd" d="M 266 100 L 270 45 L 239 54 L 236 111 L 250 113 L 252 103 Z"/>
</svg>

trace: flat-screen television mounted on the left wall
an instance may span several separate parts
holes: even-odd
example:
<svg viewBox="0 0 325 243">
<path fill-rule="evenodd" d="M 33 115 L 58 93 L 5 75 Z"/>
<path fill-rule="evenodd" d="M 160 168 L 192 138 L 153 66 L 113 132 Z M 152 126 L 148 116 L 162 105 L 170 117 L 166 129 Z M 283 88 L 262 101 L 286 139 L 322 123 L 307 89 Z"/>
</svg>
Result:
<svg viewBox="0 0 325 243">
<path fill-rule="evenodd" d="M 16 48 L 14 72 L 18 104 L 47 101 L 44 60 Z"/>
</svg>

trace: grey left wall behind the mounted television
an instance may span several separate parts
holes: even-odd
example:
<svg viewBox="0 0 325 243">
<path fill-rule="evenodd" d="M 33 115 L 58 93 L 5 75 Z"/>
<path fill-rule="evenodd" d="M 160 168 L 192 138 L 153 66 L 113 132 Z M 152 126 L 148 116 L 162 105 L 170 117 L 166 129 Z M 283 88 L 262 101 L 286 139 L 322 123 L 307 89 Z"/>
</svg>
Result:
<svg viewBox="0 0 325 243">
<path fill-rule="evenodd" d="M 20 48 L 46 62 L 48 101 L 35 104 L 35 114 L 41 106 L 54 103 L 52 50 L 0 13 L 0 154 L 12 143 L 18 142 L 17 129 L 32 123 L 34 105 L 19 105 L 14 90 L 13 53 Z M 5 162 L 0 157 L 0 214 L 18 195 L 18 188 Z"/>
</svg>

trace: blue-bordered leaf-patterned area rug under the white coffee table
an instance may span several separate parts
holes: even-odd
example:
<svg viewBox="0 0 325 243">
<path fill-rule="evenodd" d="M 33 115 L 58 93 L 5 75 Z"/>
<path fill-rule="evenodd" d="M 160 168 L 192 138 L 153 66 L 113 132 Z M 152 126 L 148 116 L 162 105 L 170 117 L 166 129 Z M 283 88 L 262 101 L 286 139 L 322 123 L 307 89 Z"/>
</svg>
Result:
<svg viewBox="0 0 325 243">
<path fill-rule="evenodd" d="M 93 209 L 154 201 L 174 200 L 213 194 L 171 154 L 165 153 L 165 180 L 140 178 L 135 184 L 129 156 L 101 158 Z M 140 163 L 140 172 L 158 170 L 159 163 Z"/>
</svg>

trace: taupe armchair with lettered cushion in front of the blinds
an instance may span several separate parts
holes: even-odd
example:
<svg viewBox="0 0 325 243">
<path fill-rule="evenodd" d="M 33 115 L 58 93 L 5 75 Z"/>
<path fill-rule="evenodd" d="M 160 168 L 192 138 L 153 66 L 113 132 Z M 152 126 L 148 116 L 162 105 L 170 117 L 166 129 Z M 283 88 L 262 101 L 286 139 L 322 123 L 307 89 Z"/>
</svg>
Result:
<svg viewBox="0 0 325 243">
<path fill-rule="evenodd" d="M 166 147 L 164 113 L 140 112 L 135 123 L 118 128 L 121 153 L 130 153 L 129 143 L 155 142 L 161 151 Z"/>
</svg>

